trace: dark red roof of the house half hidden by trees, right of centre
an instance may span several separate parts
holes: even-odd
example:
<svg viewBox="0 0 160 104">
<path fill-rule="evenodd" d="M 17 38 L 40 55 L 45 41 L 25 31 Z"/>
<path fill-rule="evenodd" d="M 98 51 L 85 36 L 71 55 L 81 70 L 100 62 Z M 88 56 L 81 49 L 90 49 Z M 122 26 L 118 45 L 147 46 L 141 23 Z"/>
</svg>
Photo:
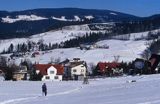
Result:
<svg viewBox="0 0 160 104">
<path fill-rule="evenodd" d="M 112 68 L 117 68 L 117 67 L 119 67 L 120 66 L 120 63 L 116 63 L 116 62 L 112 62 L 112 63 L 110 63 L 110 62 L 108 62 L 108 63 L 106 63 L 106 62 L 99 62 L 98 63 L 98 68 L 99 68 L 99 70 L 100 71 L 104 71 L 105 69 L 112 69 Z"/>
</svg>

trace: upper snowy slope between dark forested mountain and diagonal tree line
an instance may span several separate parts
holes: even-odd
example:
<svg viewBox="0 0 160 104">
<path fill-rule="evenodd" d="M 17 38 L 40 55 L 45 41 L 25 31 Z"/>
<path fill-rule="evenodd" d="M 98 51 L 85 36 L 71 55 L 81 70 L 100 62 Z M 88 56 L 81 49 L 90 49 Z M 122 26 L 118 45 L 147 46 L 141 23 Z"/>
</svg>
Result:
<svg viewBox="0 0 160 104">
<path fill-rule="evenodd" d="M 66 26 L 61 30 L 49 31 L 46 33 L 41 33 L 37 35 L 33 35 L 29 38 L 15 38 L 15 39 L 7 39 L 0 40 L 0 52 L 4 49 L 7 49 L 10 44 L 17 45 L 18 43 L 23 43 L 27 41 L 38 42 L 43 39 L 44 43 L 61 43 L 63 41 L 76 38 L 77 36 L 84 36 L 86 33 L 91 32 L 88 25 L 80 25 L 80 26 Z"/>
</svg>

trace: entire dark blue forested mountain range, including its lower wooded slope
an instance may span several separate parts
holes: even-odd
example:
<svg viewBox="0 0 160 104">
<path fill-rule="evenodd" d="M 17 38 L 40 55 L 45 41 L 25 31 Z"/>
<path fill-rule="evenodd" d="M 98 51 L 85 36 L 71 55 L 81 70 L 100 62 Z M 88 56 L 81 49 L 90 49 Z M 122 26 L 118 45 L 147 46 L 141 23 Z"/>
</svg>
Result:
<svg viewBox="0 0 160 104">
<path fill-rule="evenodd" d="M 0 39 L 23 38 L 70 25 L 109 22 L 121 22 L 121 24 L 138 23 L 143 20 L 152 22 L 152 18 L 142 18 L 111 10 L 81 8 L 40 8 L 13 12 L 0 11 Z M 157 27 L 159 25 L 156 23 Z"/>
</svg>

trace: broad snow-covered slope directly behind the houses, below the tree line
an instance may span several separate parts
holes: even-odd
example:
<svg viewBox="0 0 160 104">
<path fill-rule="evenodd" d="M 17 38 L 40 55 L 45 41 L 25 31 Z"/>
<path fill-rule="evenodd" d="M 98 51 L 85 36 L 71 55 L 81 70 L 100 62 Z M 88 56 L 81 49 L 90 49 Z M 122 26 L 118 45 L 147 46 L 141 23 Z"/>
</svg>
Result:
<svg viewBox="0 0 160 104">
<path fill-rule="evenodd" d="M 65 59 L 81 58 L 88 65 L 90 63 L 97 64 L 98 62 L 114 61 L 115 56 L 120 56 L 119 61 L 132 61 L 140 57 L 140 54 L 146 49 L 146 41 L 119 41 L 106 40 L 98 42 L 98 45 L 107 44 L 109 49 L 95 48 L 91 50 L 80 50 L 79 48 L 55 49 L 48 52 L 42 52 L 41 55 L 32 58 L 30 55 L 25 58 L 16 59 L 16 63 L 20 63 L 23 59 L 29 59 L 33 63 L 49 63 L 60 58 L 60 61 Z"/>
</svg>

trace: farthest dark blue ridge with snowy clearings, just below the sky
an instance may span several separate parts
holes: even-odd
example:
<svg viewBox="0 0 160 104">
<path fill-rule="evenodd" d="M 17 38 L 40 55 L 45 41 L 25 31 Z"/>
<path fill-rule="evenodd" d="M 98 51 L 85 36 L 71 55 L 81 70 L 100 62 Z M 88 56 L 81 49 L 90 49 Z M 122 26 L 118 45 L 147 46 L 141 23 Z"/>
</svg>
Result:
<svg viewBox="0 0 160 104">
<path fill-rule="evenodd" d="M 17 21 L 55 19 L 59 21 L 82 21 L 84 19 L 95 19 L 96 21 L 123 21 L 139 19 L 139 17 L 110 10 L 92 10 L 80 8 L 55 8 L 34 9 L 7 12 L 0 11 L 0 22 L 15 23 Z"/>
</svg>

